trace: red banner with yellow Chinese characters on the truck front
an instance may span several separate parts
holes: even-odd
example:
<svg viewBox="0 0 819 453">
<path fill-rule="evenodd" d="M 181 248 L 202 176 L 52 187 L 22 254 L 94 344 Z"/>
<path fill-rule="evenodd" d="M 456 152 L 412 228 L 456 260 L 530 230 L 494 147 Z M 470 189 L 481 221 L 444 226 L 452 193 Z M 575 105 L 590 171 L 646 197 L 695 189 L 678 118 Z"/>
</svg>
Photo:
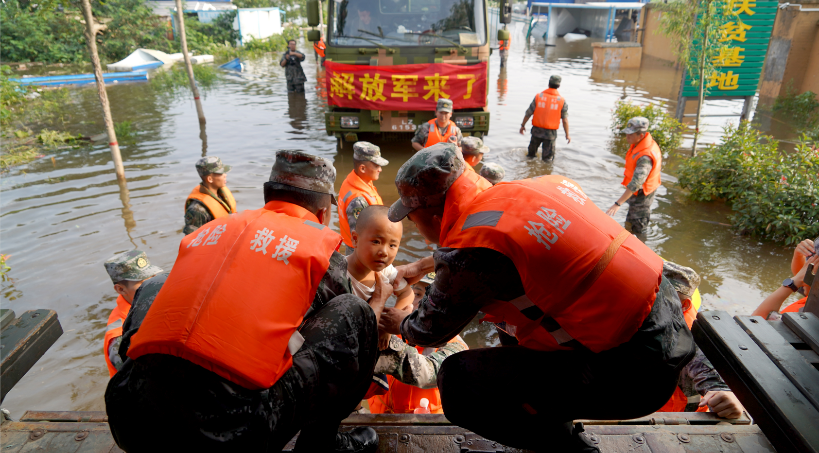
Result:
<svg viewBox="0 0 819 453">
<path fill-rule="evenodd" d="M 426 63 L 364 66 L 327 61 L 328 102 L 366 110 L 434 111 L 438 99 L 455 108 L 486 106 L 486 61 L 477 65 Z"/>
</svg>

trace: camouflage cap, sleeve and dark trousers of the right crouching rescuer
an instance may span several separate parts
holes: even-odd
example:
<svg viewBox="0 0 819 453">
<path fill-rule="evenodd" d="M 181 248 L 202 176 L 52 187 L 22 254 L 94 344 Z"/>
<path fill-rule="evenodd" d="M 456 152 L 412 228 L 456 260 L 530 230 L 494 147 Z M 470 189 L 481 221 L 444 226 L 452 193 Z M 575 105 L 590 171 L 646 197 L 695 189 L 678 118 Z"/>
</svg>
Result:
<svg viewBox="0 0 819 453">
<path fill-rule="evenodd" d="M 450 143 L 415 153 L 396 175 L 400 200 L 390 207 L 390 220 L 400 221 L 414 209 L 443 205 L 463 167 Z M 410 344 L 444 346 L 485 304 L 525 294 L 513 261 L 499 251 L 439 247 L 433 259 L 435 281 L 418 310 L 400 325 L 401 336 Z M 453 424 L 493 441 L 538 450 L 549 437 L 555 451 L 573 451 L 583 441 L 572 433 L 572 419 L 631 419 L 663 405 L 681 367 L 694 354 L 692 348 L 679 347 L 686 344 L 682 337 L 689 335 L 679 298 L 663 278 L 649 315 L 628 342 L 598 354 L 519 346 L 462 351 L 447 358 L 438 372 L 441 401 Z M 631 372 L 622 373 L 624 363 L 630 364 Z M 527 376 L 536 376 L 538 385 L 521 385 Z M 640 382 L 641 398 L 629 405 L 600 398 L 634 387 L 635 382 Z M 486 412 L 486 402 L 475 397 L 486 388 L 503 388 L 508 410 Z"/>
</svg>

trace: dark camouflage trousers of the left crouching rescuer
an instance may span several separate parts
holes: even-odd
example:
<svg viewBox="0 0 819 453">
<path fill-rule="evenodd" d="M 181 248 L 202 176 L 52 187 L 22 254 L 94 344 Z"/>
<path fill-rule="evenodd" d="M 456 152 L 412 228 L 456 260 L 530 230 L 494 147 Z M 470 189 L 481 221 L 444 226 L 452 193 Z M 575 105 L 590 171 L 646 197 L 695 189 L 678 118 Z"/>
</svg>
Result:
<svg viewBox="0 0 819 453">
<path fill-rule="evenodd" d="M 251 390 L 188 360 L 125 360 L 106 389 L 111 434 L 124 451 L 333 451 L 338 424 L 369 388 L 378 360 L 373 310 L 352 294 L 333 298 L 302 326 L 305 342 L 273 387 Z M 169 421 L 158 441 L 149 424 Z"/>
</svg>

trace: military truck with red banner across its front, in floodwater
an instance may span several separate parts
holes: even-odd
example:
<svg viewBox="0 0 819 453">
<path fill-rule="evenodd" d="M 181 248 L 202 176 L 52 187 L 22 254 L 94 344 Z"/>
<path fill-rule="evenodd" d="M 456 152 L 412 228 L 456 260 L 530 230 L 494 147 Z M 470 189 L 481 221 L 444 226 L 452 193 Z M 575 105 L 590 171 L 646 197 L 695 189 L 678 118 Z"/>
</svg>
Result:
<svg viewBox="0 0 819 453">
<path fill-rule="evenodd" d="M 308 24 L 319 25 L 318 0 L 307 3 Z M 441 97 L 454 102 L 464 136 L 488 134 L 487 0 L 327 3 L 328 135 L 409 140 Z M 314 29 L 307 39 L 322 37 Z"/>
</svg>

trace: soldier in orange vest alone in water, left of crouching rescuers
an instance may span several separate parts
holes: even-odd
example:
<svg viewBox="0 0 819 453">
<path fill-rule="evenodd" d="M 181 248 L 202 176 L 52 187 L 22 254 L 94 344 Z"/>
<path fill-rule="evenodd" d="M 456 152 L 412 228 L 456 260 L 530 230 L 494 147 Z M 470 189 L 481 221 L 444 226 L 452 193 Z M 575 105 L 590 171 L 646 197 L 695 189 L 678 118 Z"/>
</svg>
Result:
<svg viewBox="0 0 819 453">
<path fill-rule="evenodd" d="M 201 183 L 185 201 L 183 234 L 193 233 L 217 216 L 236 212 L 236 200 L 227 185 L 230 165 L 224 165 L 219 157 L 206 156 L 197 161 L 196 167 Z"/>
</svg>

